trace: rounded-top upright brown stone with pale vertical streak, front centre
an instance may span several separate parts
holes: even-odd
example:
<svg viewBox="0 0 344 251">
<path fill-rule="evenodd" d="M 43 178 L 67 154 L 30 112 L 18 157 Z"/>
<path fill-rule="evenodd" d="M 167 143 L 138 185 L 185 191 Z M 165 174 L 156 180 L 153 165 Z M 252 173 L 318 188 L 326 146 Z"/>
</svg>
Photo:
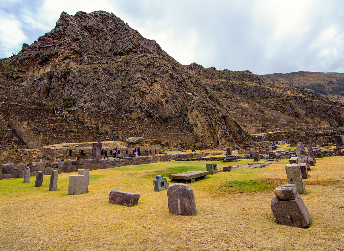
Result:
<svg viewBox="0 0 344 251">
<path fill-rule="evenodd" d="M 181 183 L 175 183 L 167 190 L 169 212 L 177 215 L 196 215 L 196 202 L 192 189 Z"/>
</svg>

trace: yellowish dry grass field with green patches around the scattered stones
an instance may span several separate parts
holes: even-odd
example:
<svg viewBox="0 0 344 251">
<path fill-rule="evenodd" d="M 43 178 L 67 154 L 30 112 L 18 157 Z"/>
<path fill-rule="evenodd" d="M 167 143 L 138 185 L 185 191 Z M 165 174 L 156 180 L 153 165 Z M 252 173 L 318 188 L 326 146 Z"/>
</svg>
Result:
<svg viewBox="0 0 344 251">
<path fill-rule="evenodd" d="M 287 183 L 288 160 L 191 183 L 197 215 L 169 214 L 167 189 L 153 190 L 155 175 L 205 170 L 206 163 L 90 171 L 89 192 L 80 195 L 67 195 L 75 173 L 59 174 L 54 192 L 48 190 L 50 175 L 42 187 L 33 187 L 35 177 L 26 184 L 0 180 L 0 250 L 344 250 L 343 156 L 317 159 L 304 180 L 309 228 L 280 225 L 270 209 L 273 190 Z M 213 163 L 219 170 L 228 166 Z M 110 204 L 111 189 L 140 194 L 138 205 Z"/>
</svg>

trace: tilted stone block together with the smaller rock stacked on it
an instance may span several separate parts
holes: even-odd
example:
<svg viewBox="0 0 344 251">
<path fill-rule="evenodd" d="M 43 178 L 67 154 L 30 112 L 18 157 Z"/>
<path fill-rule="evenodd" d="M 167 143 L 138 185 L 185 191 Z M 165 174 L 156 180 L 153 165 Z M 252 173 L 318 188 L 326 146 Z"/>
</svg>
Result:
<svg viewBox="0 0 344 251">
<path fill-rule="evenodd" d="M 282 185 L 275 189 L 271 210 L 278 223 L 295 227 L 309 227 L 311 216 L 295 184 Z"/>
</svg>

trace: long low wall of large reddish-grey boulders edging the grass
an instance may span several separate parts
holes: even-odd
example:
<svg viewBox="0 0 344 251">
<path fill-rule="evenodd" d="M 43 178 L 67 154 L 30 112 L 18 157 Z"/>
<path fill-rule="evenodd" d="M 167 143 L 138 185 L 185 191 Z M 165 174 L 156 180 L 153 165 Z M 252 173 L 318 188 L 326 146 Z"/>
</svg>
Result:
<svg viewBox="0 0 344 251">
<path fill-rule="evenodd" d="M 75 160 L 62 161 L 54 163 L 33 162 L 27 164 L 3 164 L 0 166 L 0 179 L 22 178 L 24 177 L 25 167 L 30 167 L 30 176 L 36 176 L 38 171 L 49 175 L 53 170 L 59 173 L 76 172 L 78 169 L 105 169 L 120 167 L 126 165 L 139 165 L 148 163 L 157 163 L 161 161 L 171 161 L 178 159 L 196 159 L 205 157 L 205 153 L 188 153 L 188 154 L 165 154 L 157 156 L 138 156 L 128 158 L 108 158 L 102 160 Z"/>
</svg>

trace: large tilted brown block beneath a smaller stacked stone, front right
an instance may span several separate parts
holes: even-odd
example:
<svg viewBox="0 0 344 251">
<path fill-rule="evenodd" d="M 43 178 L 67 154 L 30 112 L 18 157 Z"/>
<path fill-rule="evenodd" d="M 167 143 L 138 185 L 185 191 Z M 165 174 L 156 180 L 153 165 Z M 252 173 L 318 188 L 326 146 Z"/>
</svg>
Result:
<svg viewBox="0 0 344 251">
<path fill-rule="evenodd" d="M 280 224 L 295 227 L 309 226 L 311 216 L 299 193 L 293 200 L 281 200 L 273 197 L 270 206 Z"/>
</svg>

